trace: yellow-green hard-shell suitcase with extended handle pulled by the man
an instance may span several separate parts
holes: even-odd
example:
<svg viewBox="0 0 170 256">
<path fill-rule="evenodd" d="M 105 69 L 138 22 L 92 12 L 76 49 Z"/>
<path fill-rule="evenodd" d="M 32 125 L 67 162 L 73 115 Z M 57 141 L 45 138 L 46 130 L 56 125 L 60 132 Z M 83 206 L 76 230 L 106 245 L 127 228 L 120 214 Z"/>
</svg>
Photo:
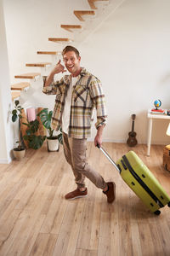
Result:
<svg viewBox="0 0 170 256">
<path fill-rule="evenodd" d="M 99 146 L 98 148 L 116 167 L 125 183 L 133 189 L 133 192 L 139 196 L 151 212 L 159 215 L 161 207 L 166 205 L 170 207 L 170 197 L 167 195 L 167 192 L 137 154 L 129 151 L 115 163 L 104 148 Z"/>
</svg>

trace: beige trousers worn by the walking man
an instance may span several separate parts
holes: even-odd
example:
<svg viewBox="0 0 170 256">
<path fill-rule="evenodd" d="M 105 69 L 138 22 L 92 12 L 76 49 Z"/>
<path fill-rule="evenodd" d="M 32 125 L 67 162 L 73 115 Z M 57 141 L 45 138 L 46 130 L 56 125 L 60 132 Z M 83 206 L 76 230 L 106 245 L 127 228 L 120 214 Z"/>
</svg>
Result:
<svg viewBox="0 0 170 256">
<path fill-rule="evenodd" d="M 67 134 L 63 132 L 63 146 L 65 159 L 71 165 L 77 188 L 85 187 L 84 179 L 88 177 L 96 187 L 105 189 L 106 183 L 104 178 L 88 165 L 86 158 L 87 139 L 68 137 Z"/>
</svg>

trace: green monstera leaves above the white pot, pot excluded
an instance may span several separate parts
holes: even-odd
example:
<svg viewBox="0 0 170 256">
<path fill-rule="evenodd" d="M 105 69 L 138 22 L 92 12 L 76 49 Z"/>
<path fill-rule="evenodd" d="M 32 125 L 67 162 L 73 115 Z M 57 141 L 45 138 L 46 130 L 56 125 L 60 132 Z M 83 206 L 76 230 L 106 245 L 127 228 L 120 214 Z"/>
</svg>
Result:
<svg viewBox="0 0 170 256">
<path fill-rule="evenodd" d="M 47 129 L 48 131 L 48 139 L 58 139 L 59 143 L 63 144 L 63 137 L 62 137 L 62 130 L 61 127 L 59 127 L 59 134 L 57 136 L 54 136 L 54 129 L 51 127 L 51 119 L 52 119 L 53 111 L 48 111 L 48 108 L 43 108 L 42 111 L 37 113 L 37 116 L 40 117 L 42 121 L 42 125 Z"/>
</svg>

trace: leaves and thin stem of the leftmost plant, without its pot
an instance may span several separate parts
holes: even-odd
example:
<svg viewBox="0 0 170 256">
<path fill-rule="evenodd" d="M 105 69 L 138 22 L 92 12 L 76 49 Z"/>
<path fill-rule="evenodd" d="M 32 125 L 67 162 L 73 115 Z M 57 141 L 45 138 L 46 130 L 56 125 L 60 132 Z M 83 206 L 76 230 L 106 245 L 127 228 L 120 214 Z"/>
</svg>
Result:
<svg viewBox="0 0 170 256">
<path fill-rule="evenodd" d="M 19 130 L 20 130 L 20 119 L 22 118 L 22 115 L 21 115 L 22 109 L 23 108 L 20 106 L 20 102 L 15 101 L 14 102 L 14 109 L 12 110 L 12 121 L 15 122 L 17 119 L 19 120 Z M 15 150 L 20 151 L 20 150 L 25 149 L 25 145 L 23 145 L 23 143 L 21 142 L 20 131 L 19 131 L 19 141 L 16 142 L 16 143 L 18 143 L 18 147 L 15 148 Z"/>
</svg>

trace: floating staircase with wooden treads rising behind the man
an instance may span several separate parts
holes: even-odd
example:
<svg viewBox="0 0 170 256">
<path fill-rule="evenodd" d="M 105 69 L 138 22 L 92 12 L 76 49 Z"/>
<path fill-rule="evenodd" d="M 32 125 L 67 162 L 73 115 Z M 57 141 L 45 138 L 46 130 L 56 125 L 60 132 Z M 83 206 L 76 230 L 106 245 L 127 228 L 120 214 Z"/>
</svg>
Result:
<svg viewBox="0 0 170 256">
<path fill-rule="evenodd" d="M 61 24 L 60 28 L 62 28 L 63 30 L 65 30 L 66 32 L 80 32 L 82 33 L 82 29 L 86 24 L 86 20 L 87 18 L 90 19 L 93 18 L 93 20 L 95 19 L 95 11 L 97 11 L 97 7 L 95 5 L 95 3 L 108 3 L 109 0 L 87 0 L 89 7 L 91 8 L 91 10 L 74 10 L 73 13 L 74 15 L 77 17 L 77 19 L 79 21 L 81 21 L 83 23 L 83 25 L 81 24 Z M 95 10 L 95 11 L 94 11 Z M 91 26 L 91 25 L 90 25 Z M 66 45 L 66 44 L 71 44 L 71 42 L 73 42 L 74 40 L 72 38 L 48 38 L 49 42 L 54 42 L 54 43 L 59 43 L 62 46 Z M 20 97 L 20 92 L 24 91 L 26 92 L 26 88 L 30 88 L 31 84 L 33 83 L 33 81 L 36 81 L 38 78 L 41 77 L 42 73 L 44 70 L 48 69 L 48 68 L 52 68 L 53 65 L 56 64 L 56 61 L 59 60 L 59 57 L 61 56 L 61 51 L 57 50 L 57 51 L 53 51 L 53 50 L 38 50 L 37 51 L 37 55 L 50 55 L 52 61 L 51 62 L 31 62 L 31 63 L 26 63 L 26 67 L 40 67 L 41 68 L 41 73 L 23 73 L 23 74 L 19 74 L 19 75 L 15 75 L 14 78 L 15 79 L 30 79 L 30 83 L 28 82 L 21 82 L 21 83 L 17 83 L 17 84 L 12 84 L 11 85 L 11 93 L 12 93 L 12 99 L 16 99 L 18 97 Z"/>
</svg>

